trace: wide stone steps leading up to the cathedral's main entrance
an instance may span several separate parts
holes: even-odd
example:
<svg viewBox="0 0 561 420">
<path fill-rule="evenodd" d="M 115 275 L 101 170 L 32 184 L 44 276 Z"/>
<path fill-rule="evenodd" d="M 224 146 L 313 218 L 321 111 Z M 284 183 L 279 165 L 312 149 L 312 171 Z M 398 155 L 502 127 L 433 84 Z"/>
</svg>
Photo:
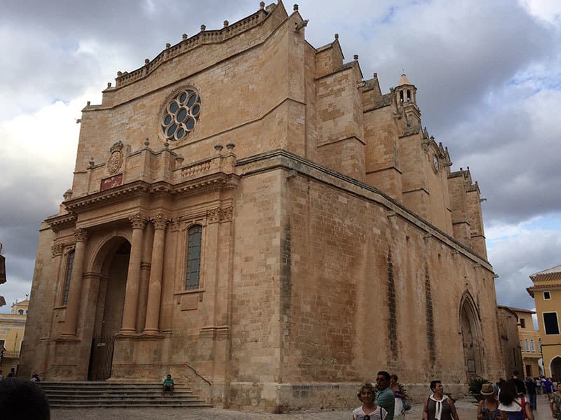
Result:
<svg viewBox="0 0 561 420">
<path fill-rule="evenodd" d="M 161 382 L 41 381 L 39 385 L 51 408 L 212 407 L 186 384 L 175 384 L 173 395 L 162 395 Z"/>
</svg>

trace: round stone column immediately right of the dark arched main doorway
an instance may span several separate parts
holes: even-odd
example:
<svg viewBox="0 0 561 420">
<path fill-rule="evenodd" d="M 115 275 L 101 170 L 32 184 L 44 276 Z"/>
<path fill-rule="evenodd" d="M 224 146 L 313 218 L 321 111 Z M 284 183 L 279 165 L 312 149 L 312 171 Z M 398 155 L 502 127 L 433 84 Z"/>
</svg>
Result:
<svg viewBox="0 0 561 420">
<path fill-rule="evenodd" d="M 127 286 L 125 304 L 123 307 L 123 323 L 121 334 L 136 332 L 136 313 L 138 290 L 140 288 L 140 262 L 142 261 L 142 232 L 146 225 L 146 218 L 142 214 L 135 214 L 129 218 L 133 225 L 133 237 L 130 244 L 130 258 L 128 260 Z"/>
</svg>

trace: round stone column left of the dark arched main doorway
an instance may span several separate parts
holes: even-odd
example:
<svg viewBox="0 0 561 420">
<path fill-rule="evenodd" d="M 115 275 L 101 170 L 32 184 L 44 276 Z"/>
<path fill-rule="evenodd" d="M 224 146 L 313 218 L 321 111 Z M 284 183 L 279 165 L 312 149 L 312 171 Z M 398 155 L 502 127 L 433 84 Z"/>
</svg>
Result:
<svg viewBox="0 0 561 420">
<path fill-rule="evenodd" d="M 74 249 L 74 263 L 70 276 L 70 288 L 65 313 L 65 325 L 62 325 L 62 337 L 76 337 L 76 324 L 78 323 L 78 307 L 80 305 L 80 291 L 83 274 L 83 259 L 86 249 L 88 232 L 76 229 L 76 248 Z"/>
</svg>

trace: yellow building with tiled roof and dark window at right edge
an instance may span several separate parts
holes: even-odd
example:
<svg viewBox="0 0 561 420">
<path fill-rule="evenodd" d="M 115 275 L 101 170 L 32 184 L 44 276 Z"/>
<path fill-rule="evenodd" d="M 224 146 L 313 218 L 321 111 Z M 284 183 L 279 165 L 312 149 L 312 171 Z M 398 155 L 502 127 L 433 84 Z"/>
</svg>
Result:
<svg viewBox="0 0 561 420">
<path fill-rule="evenodd" d="M 538 314 L 541 353 L 546 377 L 561 378 L 561 265 L 530 276 L 534 286 L 527 288 L 534 297 Z"/>
</svg>

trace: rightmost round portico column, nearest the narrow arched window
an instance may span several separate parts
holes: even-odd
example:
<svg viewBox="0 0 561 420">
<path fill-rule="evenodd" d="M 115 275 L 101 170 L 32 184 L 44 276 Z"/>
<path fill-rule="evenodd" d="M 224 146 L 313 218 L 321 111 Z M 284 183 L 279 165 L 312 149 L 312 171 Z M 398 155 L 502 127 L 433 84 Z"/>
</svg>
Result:
<svg viewBox="0 0 561 420">
<path fill-rule="evenodd" d="M 162 268 L 165 226 L 169 219 L 159 213 L 152 219 L 154 223 L 154 244 L 152 246 L 152 260 L 150 269 L 150 283 L 148 286 L 148 304 L 146 308 L 146 322 L 144 334 L 158 333 L 160 321 L 160 300 L 162 291 Z"/>
</svg>

